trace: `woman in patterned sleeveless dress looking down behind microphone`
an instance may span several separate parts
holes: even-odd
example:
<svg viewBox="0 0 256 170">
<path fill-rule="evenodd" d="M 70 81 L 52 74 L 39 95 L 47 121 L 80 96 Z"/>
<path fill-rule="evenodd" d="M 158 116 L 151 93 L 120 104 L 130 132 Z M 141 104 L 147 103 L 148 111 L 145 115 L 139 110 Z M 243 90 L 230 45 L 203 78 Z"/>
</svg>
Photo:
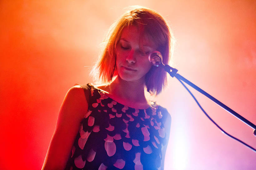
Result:
<svg viewBox="0 0 256 170">
<path fill-rule="evenodd" d="M 111 26 L 93 74 L 105 85 L 75 85 L 62 103 L 42 169 L 163 169 L 170 114 L 145 98 L 160 94 L 173 36 L 157 12 L 131 7 Z M 77 133 L 78 132 L 78 133 Z"/>
</svg>

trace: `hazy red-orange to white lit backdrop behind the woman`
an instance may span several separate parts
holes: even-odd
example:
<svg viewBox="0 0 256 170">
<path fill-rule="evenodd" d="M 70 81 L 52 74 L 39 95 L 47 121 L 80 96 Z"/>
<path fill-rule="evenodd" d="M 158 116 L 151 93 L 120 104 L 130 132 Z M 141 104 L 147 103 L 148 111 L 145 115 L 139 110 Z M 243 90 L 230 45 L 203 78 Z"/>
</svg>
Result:
<svg viewBox="0 0 256 170">
<path fill-rule="evenodd" d="M 42 167 L 67 90 L 92 82 L 107 29 L 137 4 L 169 21 L 178 73 L 256 124 L 255 0 L 0 1 L 0 169 Z M 252 128 L 192 92 L 221 127 L 256 148 Z M 177 80 L 156 100 L 172 116 L 166 169 L 256 168 L 256 153 L 222 134 Z"/>
</svg>

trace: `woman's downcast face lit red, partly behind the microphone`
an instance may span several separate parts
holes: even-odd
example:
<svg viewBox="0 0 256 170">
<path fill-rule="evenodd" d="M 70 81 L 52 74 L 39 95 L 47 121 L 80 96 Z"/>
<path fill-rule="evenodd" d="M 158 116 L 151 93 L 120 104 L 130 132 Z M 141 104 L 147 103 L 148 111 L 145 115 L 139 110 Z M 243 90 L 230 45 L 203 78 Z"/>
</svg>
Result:
<svg viewBox="0 0 256 170">
<path fill-rule="evenodd" d="M 121 79 L 143 82 L 152 67 L 148 55 L 156 45 L 146 34 L 141 34 L 135 25 L 123 29 L 116 46 L 116 67 Z"/>
</svg>

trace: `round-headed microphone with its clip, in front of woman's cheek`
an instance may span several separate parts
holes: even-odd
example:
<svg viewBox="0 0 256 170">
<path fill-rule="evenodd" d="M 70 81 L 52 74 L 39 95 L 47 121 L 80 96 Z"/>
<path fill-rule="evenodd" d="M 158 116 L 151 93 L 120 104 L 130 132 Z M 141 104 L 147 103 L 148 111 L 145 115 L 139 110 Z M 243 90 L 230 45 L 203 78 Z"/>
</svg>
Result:
<svg viewBox="0 0 256 170">
<path fill-rule="evenodd" d="M 174 77 L 177 74 L 177 69 L 170 67 L 168 64 L 163 64 L 163 56 L 159 51 L 153 51 L 148 56 L 149 62 L 153 66 L 163 67 L 166 72 L 170 74 L 171 77 Z"/>
</svg>

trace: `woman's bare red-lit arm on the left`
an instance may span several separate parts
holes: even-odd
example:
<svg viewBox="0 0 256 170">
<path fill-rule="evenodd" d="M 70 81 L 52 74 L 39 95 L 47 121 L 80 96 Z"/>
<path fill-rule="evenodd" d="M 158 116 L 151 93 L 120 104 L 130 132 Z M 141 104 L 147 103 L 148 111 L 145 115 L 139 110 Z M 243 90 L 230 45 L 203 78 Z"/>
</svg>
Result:
<svg viewBox="0 0 256 170">
<path fill-rule="evenodd" d="M 79 85 L 73 86 L 62 103 L 42 170 L 65 168 L 80 122 L 87 110 L 84 90 Z"/>
</svg>

